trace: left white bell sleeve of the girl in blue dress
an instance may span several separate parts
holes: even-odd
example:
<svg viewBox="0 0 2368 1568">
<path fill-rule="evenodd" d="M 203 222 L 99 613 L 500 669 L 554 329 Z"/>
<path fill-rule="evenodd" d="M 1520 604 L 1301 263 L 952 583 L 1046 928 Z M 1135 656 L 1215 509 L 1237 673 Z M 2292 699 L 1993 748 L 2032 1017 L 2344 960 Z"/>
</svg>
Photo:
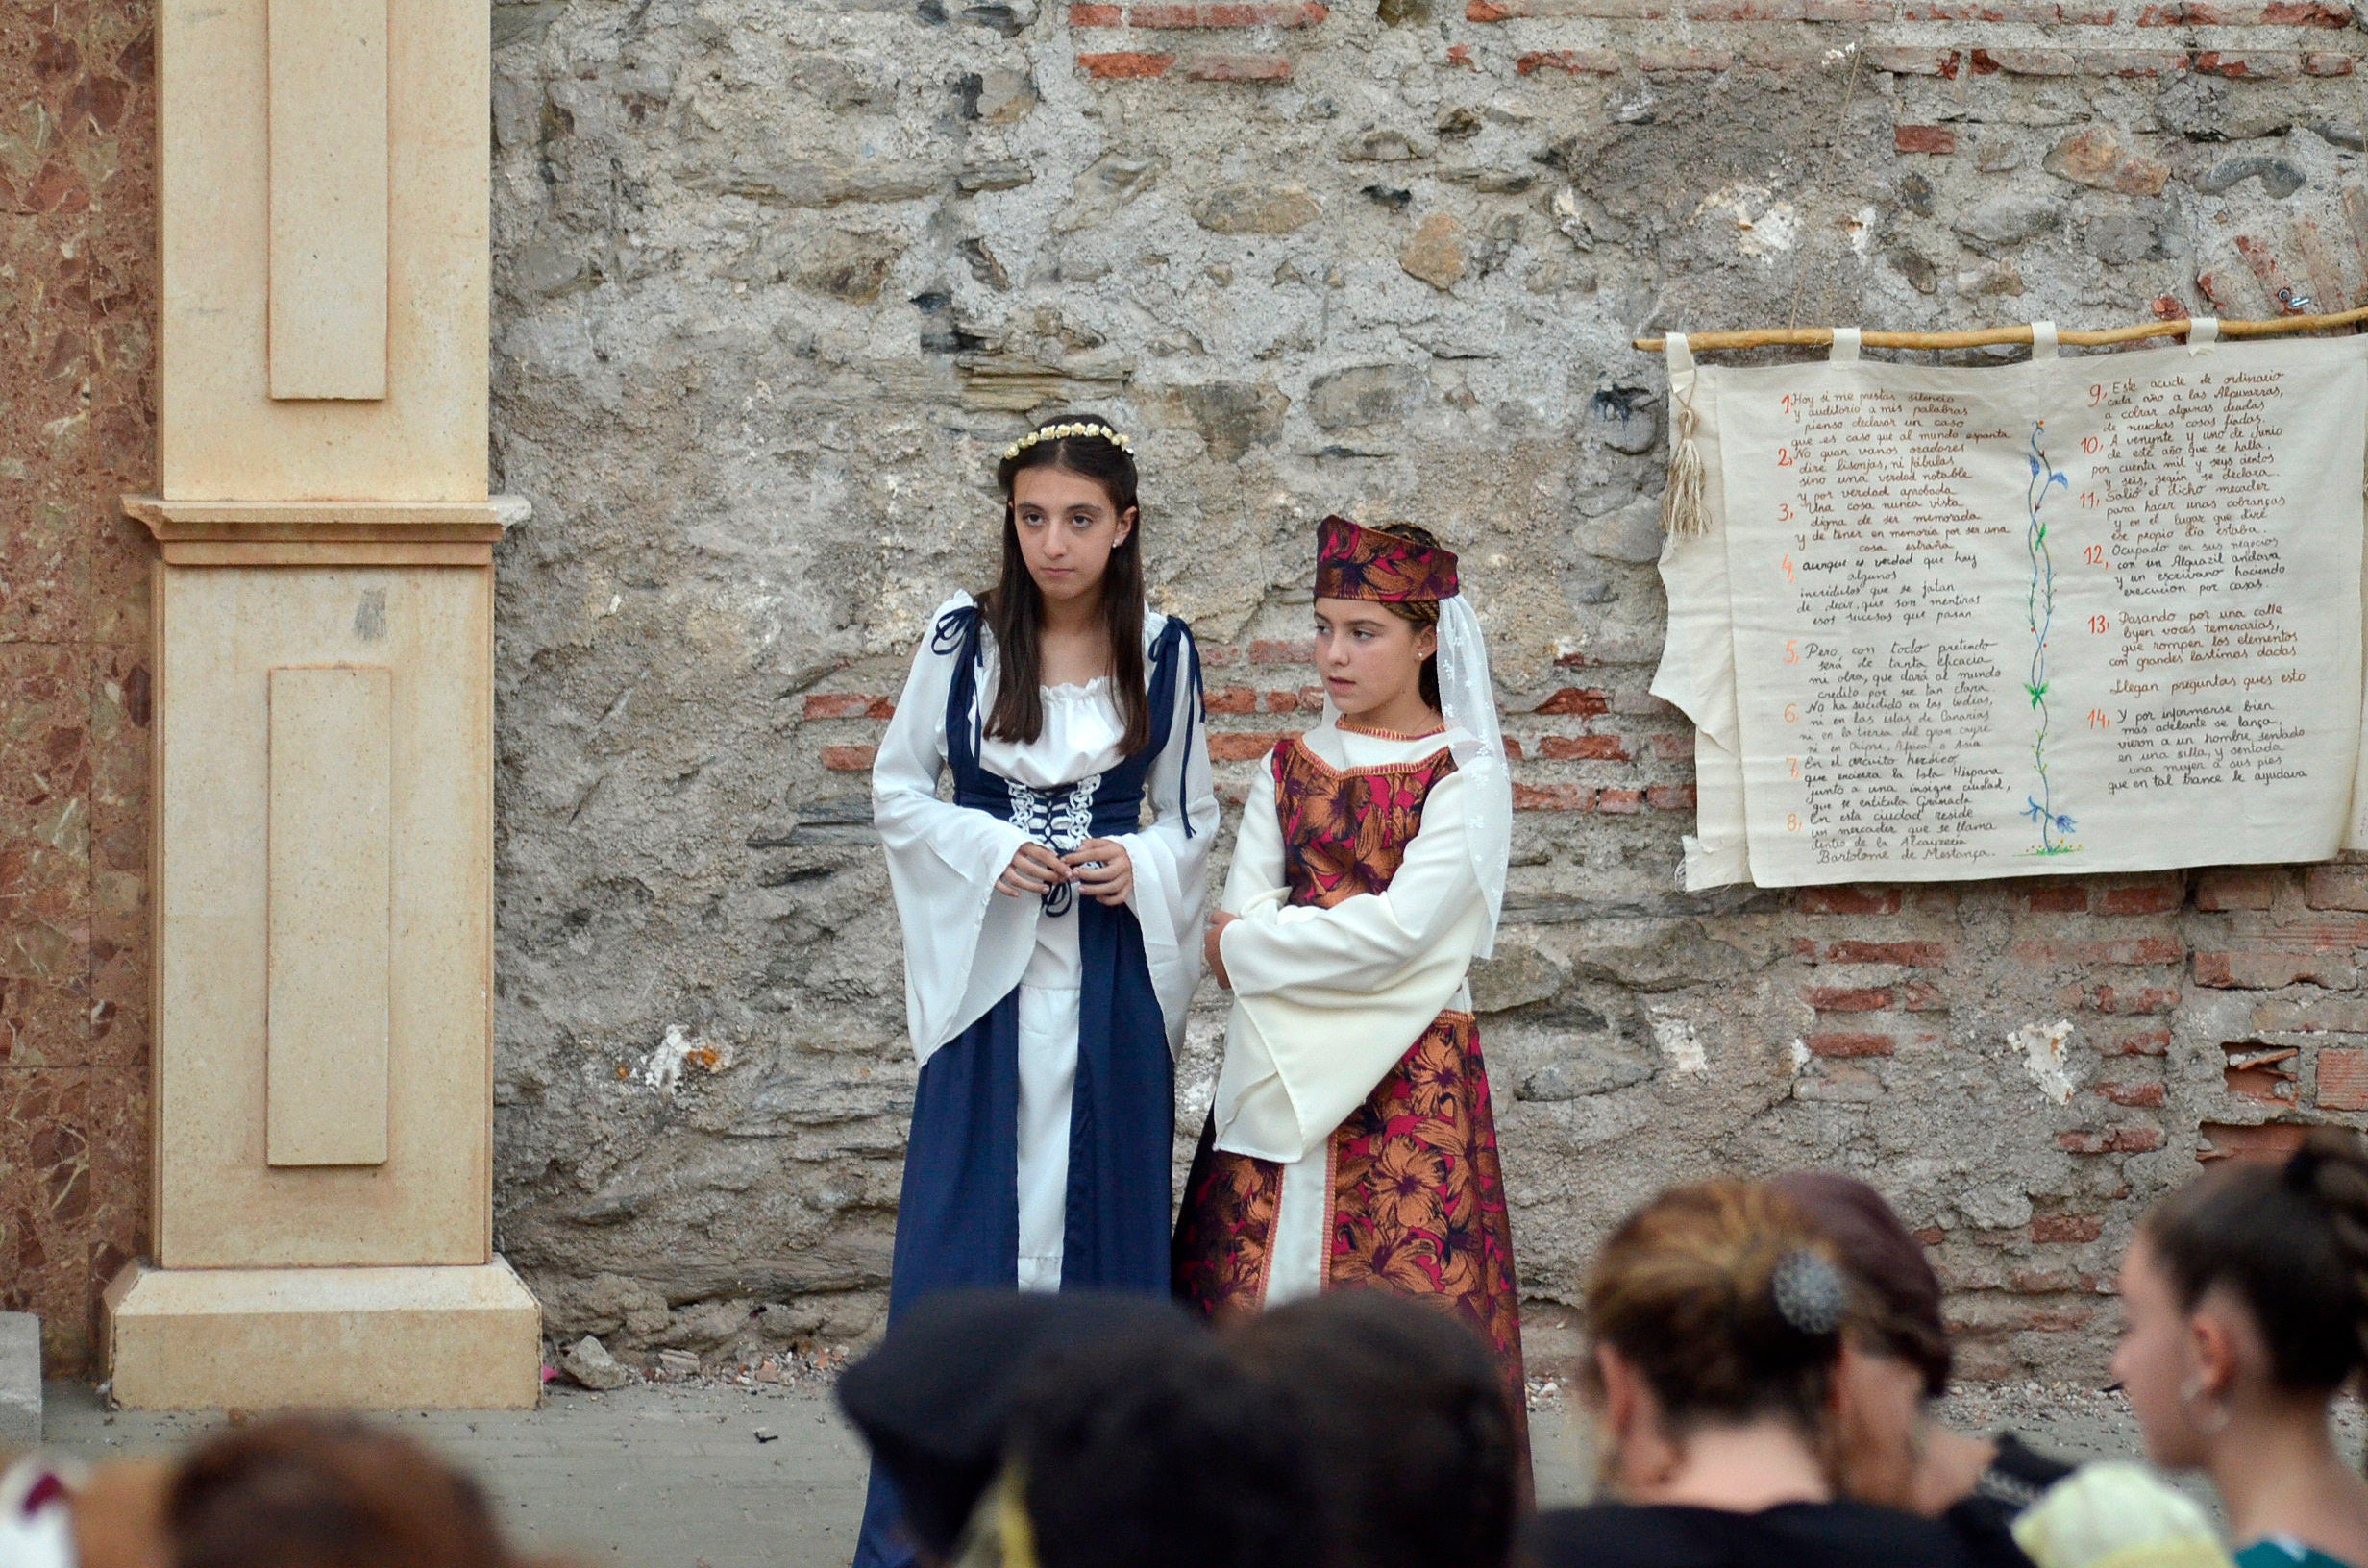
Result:
<svg viewBox="0 0 2368 1568">
<path fill-rule="evenodd" d="M 969 602 L 954 595 L 938 616 Z M 871 763 L 871 822 L 905 928 L 905 1023 L 924 1063 L 1021 983 L 1037 921 L 1037 900 L 995 893 L 1028 834 L 938 798 L 957 656 L 921 640 Z"/>
</svg>

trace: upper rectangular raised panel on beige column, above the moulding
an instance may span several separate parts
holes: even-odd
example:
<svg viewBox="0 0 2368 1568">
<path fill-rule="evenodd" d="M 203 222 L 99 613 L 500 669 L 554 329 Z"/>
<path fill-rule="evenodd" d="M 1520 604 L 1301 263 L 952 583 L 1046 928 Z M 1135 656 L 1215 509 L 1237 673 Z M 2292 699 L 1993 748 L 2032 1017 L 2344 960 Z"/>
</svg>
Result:
<svg viewBox="0 0 2368 1568">
<path fill-rule="evenodd" d="M 386 0 L 270 0 L 272 398 L 386 396 Z"/>
</svg>

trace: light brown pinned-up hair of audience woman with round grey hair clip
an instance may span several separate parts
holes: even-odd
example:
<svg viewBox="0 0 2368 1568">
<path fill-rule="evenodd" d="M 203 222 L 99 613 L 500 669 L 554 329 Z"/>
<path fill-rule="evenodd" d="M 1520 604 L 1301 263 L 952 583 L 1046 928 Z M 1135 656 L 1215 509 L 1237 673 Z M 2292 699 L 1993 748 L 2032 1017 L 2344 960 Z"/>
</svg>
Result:
<svg viewBox="0 0 2368 1568">
<path fill-rule="evenodd" d="M 1795 1253 L 1833 1267 L 1833 1246 L 1781 1191 L 1672 1187 L 1603 1244 L 1587 1329 L 1653 1386 L 1674 1433 L 1781 1416 L 1821 1440 L 1842 1334 L 1804 1331 L 1778 1305 Z"/>
</svg>

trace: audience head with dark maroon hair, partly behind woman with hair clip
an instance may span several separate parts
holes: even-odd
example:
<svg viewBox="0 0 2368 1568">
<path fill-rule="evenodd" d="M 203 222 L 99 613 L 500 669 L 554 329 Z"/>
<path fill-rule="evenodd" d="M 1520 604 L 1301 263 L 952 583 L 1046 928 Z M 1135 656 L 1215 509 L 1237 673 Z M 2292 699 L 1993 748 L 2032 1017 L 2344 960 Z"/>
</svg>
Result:
<svg viewBox="0 0 2368 1568">
<path fill-rule="evenodd" d="M 1830 1170 L 1769 1182 L 1833 1246 L 1857 1315 L 1835 1367 L 1835 1464 L 1861 1502 L 1916 1504 L 1925 1400 L 1949 1388 L 1939 1274 L 1883 1194 Z"/>
</svg>

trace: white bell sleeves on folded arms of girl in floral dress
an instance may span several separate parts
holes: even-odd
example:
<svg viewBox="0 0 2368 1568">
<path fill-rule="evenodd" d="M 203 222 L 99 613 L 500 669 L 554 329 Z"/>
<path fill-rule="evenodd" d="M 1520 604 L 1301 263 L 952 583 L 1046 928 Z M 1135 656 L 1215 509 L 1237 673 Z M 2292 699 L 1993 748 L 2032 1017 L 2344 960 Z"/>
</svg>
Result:
<svg viewBox="0 0 2368 1568">
<path fill-rule="evenodd" d="M 1466 775 L 1440 779 L 1390 886 L 1331 910 L 1283 905 L 1257 886 L 1281 881 L 1272 822 L 1257 829 L 1274 831 L 1274 848 L 1260 850 L 1272 869 L 1241 869 L 1236 855 L 1227 902 L 1241 902 L 1241 919 L 1220 938 L 1234 1016 L 1217 1073 L 1217 1149 L 1305 1158 L 1454 1000 L 1487 928 L 1466 846 L 1473 789 Z M 1255 817 L 1243 812 L 1246 841 Z"/>
</svg>

